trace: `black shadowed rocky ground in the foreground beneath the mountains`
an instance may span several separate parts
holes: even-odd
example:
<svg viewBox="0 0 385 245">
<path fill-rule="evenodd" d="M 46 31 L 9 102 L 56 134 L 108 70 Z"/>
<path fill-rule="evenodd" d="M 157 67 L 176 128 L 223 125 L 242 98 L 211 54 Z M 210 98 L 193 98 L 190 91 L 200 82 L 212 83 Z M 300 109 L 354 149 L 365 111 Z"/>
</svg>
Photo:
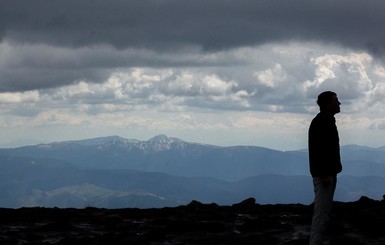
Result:
<svg viewBox="0 0 385 245">
<path fill-rule="evenodd" d="M 311 205 L 0 209 L 0 244 L 307 244 Z M 385 201 L 336 202 L 328 244 L 385 244 Z"/>
</svg>

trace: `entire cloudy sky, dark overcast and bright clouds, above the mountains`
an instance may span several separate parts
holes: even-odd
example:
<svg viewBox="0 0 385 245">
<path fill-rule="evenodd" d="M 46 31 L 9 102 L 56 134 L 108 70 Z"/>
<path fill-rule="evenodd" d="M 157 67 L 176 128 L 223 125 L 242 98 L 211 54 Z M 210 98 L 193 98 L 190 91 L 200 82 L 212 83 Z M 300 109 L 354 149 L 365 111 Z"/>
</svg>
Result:
<svg viewBox="0 0 385 245">
<path fill-rule="evenodd" d="M 166 134 L 306 147 L 337 92 L 341 144 L 385 145 L 383 0 L 2 0 L 0 147 Z"/>
</svg>

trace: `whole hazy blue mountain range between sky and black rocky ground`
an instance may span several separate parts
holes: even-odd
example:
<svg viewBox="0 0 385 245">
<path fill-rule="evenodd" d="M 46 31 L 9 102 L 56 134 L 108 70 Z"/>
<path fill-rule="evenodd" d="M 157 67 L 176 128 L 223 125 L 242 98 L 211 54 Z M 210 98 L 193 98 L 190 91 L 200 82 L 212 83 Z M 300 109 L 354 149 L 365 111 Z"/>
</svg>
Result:
<svg viewBox="0 0 385 245">
<path fill-rule="evenodd" d="M 385 194 L 385 148 L 341 147 L 336 199 Z M 1 207 L 104 208 L 312 202 L 306 150 L 119 136 L 0 149 Z"/>
</svg>

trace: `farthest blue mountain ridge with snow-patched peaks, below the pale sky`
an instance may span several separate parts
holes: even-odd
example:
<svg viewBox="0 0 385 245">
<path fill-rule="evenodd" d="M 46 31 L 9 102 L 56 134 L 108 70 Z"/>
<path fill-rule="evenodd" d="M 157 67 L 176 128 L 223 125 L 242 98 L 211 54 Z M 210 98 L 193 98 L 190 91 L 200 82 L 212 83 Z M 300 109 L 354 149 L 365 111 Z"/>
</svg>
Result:
<svg viewBox="0 0 385 245">
<path fill-rule="evenodd" d="M 307 150 L 215 146 L 157 135 L 147 141 L 119 136 L 0 148 L 0 155 L 52 158 L 80 168 L 132 169 L 228 181 L 261 174 L 308 175 Z M 342 146 L 342 174 L 385 177 L 385 148 Z"/>
</svg>

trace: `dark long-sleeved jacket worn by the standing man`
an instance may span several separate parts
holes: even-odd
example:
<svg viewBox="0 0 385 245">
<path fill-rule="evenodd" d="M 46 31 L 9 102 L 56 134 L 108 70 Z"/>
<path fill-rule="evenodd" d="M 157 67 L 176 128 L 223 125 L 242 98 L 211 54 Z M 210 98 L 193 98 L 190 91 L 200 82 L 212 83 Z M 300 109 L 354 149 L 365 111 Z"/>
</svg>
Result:
<svg viewBox="0 0 385 245">
<path fill-rule="evenodd" d="M 336 176 L 342 171 L 336 120 L 318 113 L 309 128 L 309 165 L 313 177 Z"/>
</svg>

